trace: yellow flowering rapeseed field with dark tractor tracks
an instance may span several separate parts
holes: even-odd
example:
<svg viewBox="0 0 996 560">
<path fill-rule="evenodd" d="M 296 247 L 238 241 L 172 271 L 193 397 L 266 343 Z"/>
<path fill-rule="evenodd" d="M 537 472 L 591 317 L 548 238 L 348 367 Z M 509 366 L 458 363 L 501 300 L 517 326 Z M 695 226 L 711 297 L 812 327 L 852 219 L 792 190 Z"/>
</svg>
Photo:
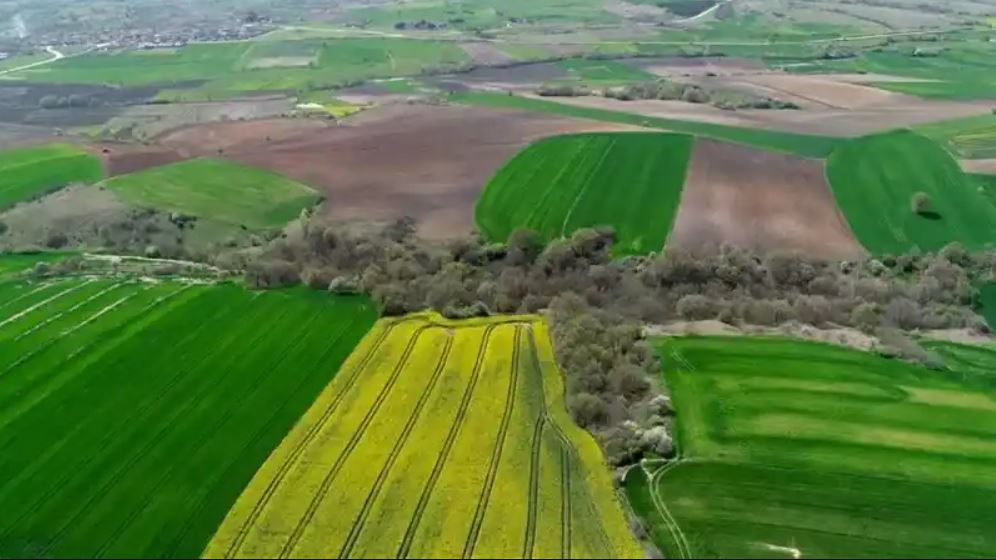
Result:
<svg viewBox="0 0 996 560">
<path fill-rule="evenodd" d="M 535 317 L 382 320 L 204 556 L 636 557 Z"/>
</svg>

